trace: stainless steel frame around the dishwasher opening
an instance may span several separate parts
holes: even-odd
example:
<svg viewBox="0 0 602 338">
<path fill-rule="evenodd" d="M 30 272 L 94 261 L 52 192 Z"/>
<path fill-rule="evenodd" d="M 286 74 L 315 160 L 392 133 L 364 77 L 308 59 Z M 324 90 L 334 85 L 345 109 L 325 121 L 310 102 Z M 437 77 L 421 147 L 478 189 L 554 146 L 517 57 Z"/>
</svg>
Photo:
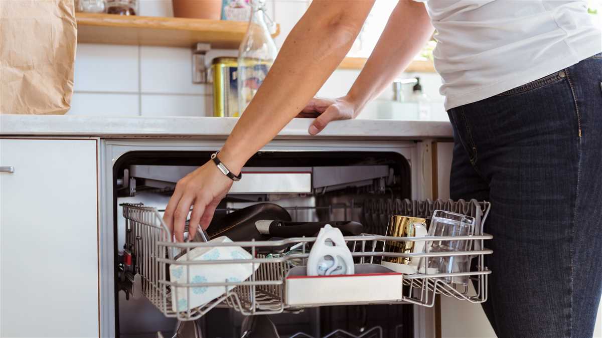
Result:
<svg viewBox="0 0 602 338">
<path fill-rule="evenodd" d="M 182 138 L 134 138 L 101 140 L 99 166 L 99 298 L 101 337 L 114 337 L 114 224 L 113 164 L 121 156 L 135 151 L 215 152 L 225 140 Z M 406 158 L 411 172 L 411 198 L 432 198 L 431 140 L 274 140 L 261 151 L 269 152 L 395 152 Z M 414 336 L 434 335 L 434 310 L 414 306 Z"/>
</svg>

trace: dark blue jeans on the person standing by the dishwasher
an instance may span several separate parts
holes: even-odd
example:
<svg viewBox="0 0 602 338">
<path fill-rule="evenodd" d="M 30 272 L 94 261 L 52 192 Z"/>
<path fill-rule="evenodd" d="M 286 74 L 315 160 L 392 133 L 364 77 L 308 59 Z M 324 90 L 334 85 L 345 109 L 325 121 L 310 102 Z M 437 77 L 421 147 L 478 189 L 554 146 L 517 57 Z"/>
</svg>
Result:
<svg viewBox="0 0 602 338">
<path fill-rule="evenodd" d="M 491 201 L 498 337 L 592 337 L 602 291 L 602 54 L 448 111 L 451 197 Z"/>
</svg>

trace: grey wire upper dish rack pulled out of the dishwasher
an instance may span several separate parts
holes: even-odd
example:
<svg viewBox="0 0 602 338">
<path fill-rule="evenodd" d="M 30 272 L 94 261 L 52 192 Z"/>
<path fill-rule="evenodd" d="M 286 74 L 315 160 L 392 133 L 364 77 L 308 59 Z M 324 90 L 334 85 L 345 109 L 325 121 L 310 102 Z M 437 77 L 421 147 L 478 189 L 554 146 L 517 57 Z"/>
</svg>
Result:
<svg viewBox="0 0 602 338">
<path fill-rule="evenodd" d="M 133 269 L 126 272 L 129 280 L 138 281 L 137 289 L 144 297 L 148 298 L 165 316 L 178 318 L 180 321 L 198 319 L 214 307 L 231 307 L 243 315 L 270 315 L 282 312 L 298 312 L 305 307 L 345 304 L 417 304 L 432 307 L 435 295 L 441 294 L 454 297 L 458 300 L 471 303 L 482 303 L 487 300 L 487 280 L 491 274 L 484 265 L 484 256 L 491 254 L 492 250 L 484 247 L 483 241 L 492 239 L 491 235 L 483 233 L 483 223 L 489 212 L 488 202 L 470 201 L 417 201 L 417 200 L 391 200 L 377 199 L 366 200 L 363 206 L 344 206 L 347 210 L 357 207 L 375 209 L 381 212 L 390 212 L 396 215 L 421 217 L 430 219 L 434 210 L 446 210 L 464 214 L 476 219 L 477 226 L 471 236 L 435 236 L 435 237 L 393 237 L 383 235 L 346 236 L 345 240 L 352 250 L 355 263 L 379 263 L 383 257 L 441 257 L 441 256 L 470 256 L 473 268 L 470 272 L 455 272 L 446 274 L 411 274 L 402 275 L 399 287 L 403 295 L 397 299 L 369 302 L 350 302 L 332 304 L 287 304 L 285 286 L 287 274 L 295 265 L 305 265 L 309 251 L 315 238 L 287 238 L 276 241 L 246 241 L 246 242 L 173 242 L 172 234 L 167 229 L 160 212 L 154 207 L 142 204 L 121 204 L 123 217 L 126 219 L 126 247 L 132 251 Z M 382 206 L 382 207 L 381 207 Z M 340 206 L 343 207 L 343 206 Z M 307 207 L 305 207 L 307 208 Z M 330 206 L 330 215 L 337 207 Z M 385 215 L 385 218 L 388 215 Z M 479 226 L 480 224 L 480 226 Z M 454 251 L 453 253 L 392 253 L 385 251 L 387 242 L 431 242 L 431 241 L 469 241 L 467 251 Z M 286 255 L 269 255 L 267 252 L 281 253 L 283 248 L 299 248 L 296 253 Z M 231 260 L 178 260 L 178 252 L 190 252 L 194 248 L 240 247 L 250 253 L 249 259 Z M 298 252 L 298 253 L 297 253 Z M 255 271 L 244 281 L 224 280 L 220 283 L 206 283 L 199 281 L 193 283 L 176 283 L 170 281 L 169 265 L 199 266 L 217 264 L 246 264 Z M 189 270 L 188 270 L 189 271 Z M 190 276 L 189 274 L 187 274 Z M 448 283 L 445 277 L 468 276 L 474 287 Z M 136 278 L 134 278 L 136 277 Z M 190 279 L 190 278 L 189 278 Z M 223 293 L 203 306 L 193 309 L 174 309 L 172 305 L 173 290 L 186 293 L 187 300 L 199 288 L 223 287 Z M 397 286 L 393 286 L 397 287 Z M 361 290 L 358 290 L 361 292 Z M 181 293 L 179 293 L 181 295 Z M 190 303 L 188 303 L 190 304 Z"/>
</svg>

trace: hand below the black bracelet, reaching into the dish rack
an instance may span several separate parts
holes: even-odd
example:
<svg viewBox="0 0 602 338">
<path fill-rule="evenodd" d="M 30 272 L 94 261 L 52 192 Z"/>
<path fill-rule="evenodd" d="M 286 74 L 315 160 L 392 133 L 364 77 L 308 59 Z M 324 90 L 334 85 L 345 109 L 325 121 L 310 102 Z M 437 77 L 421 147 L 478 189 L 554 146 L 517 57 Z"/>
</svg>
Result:
<svg viewBox="0 0 602 338">
<path fill-rule="evenodd" d="M 188 226 L 188 238 L 191 239 L 197 225 L 207 229 L 217 205 L 231 186 L 232 180 L 211 161 L 179 180 L 163 214 L 163 221 L 176 236 L 176 241 L 184 241 L 184 223 L 190 207 L 193 206 Z"/>
</svg>

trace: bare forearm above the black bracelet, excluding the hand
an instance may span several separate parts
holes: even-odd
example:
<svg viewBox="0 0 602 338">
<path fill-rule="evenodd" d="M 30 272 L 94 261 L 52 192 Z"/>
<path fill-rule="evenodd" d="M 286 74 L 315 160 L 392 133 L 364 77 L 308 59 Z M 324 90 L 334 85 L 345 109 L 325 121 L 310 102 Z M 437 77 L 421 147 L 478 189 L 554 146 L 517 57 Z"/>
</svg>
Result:
<svg viewBox="0 0 602 338">
<path fill-rule="evenodd" d="M 313 1 L 220 152 L 235 173 L 303 109 L 345 57 L 373 1 Z"/>
</svg>

